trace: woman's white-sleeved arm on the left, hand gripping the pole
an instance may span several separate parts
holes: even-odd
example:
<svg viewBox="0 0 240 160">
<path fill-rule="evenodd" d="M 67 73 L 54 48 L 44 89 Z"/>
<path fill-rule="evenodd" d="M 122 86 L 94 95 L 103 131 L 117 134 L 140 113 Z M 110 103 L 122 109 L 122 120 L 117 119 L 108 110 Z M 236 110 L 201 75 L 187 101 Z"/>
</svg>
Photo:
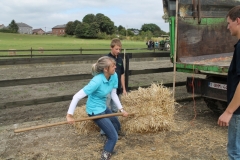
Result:
<svg viewBox="0 0 240 160">
<path fill-rule="evenodd" d="M 71 101 L 71 103 L 70 103 L 70 106 L 69 106 L 68 112 L 67 112 L 67 116 L 66 116 L 67 121 L 68 121 L 69 123 L 74 123 L 74 118 L 73 118 L 74 110 L 75 110 L 78 102 L 79 102 L 82 98 L 84 98 L 84 97 L 86 97 L 86 96 L 87 96 L 87 95 L 86 95 L 86 93 L 83 91 L 83 89 L 81 89 L 79 92 L 77 92 L 77 93 L 73 96 L 73 99 L 72 99 L 72 101 Z"/>
</svg>

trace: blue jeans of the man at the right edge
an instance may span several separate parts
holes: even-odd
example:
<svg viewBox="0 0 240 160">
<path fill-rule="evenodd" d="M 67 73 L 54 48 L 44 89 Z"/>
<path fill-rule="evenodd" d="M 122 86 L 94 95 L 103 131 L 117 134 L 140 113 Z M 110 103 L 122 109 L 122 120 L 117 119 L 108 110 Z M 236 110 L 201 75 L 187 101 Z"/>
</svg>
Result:
<svg viewBox="0 0 240 160">
<path fill-rule="evenodd" d="M 228 158 L 240 160 L 240 115 L 233 114 L 228 126 Z"/>
</svg>

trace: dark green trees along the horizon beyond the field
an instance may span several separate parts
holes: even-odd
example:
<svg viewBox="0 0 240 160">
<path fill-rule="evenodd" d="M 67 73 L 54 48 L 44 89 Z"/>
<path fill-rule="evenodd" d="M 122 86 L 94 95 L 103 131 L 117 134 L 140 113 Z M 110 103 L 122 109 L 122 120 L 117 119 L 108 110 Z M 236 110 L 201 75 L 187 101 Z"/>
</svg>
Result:
<svg viewBox="0 0 240 160">
<path fill-rule="evenodd" d="M 18 33 L 18 25 L 14 20 L 7 28 L 0 29 L 0 32 Z M 66 24 L 65 34 L 76 36 L 77 38 L 99 38 L 107 39 L 111 36 L 116 37 L 136 37 L 136 40 L 152 37 L 159 37 L 163 34 L 168 34 L 161 30 L 159 26 L 154 23 L 143 24 L 141 29 L 125 28 L 122 25 L 115 26 L 114 22 L 102 13 L 87 14 L 82 21 L 69 21 Z"/>
</svg>

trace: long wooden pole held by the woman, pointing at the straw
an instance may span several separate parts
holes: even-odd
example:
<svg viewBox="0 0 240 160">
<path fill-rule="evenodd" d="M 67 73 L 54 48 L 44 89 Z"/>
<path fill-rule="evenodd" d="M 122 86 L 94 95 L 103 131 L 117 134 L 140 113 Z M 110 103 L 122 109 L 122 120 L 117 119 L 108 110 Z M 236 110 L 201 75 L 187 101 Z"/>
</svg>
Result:
<svg viewBox="0 0 240 160">
<path fill-rule="evenodd" d="M 128 114 L 128 116 L 131 116 L 131 115 L 134 115 L 134 113 L 129 113 Z M 92 116 L 92 117 L 87 117 L 87 118 L 81 118 L 81 119 L 75 120 L 75 122 L 87 121 L 87 120 L 93 120 L 93 119 L 99 119 L 99 118 L 107 118 L 107 117 L 113 117 L 113 116 L 123 116 L 123 113 L 111 113 L 111 114 L 104 114 L 104 115 L 100 115 L 100 116 Z M 63 121 L 63 122 L 33 126 L 33 127 L 29 127 L 29 128 L 15 129 L 14 133 L 30 131 L 30 130 L 39 129 L 39 128 L 47 128 L 47 127 L 52 127 L 52 126 L 58 126 L 58 125 L 63 125 L 63 124 L 68 124 L 68 122 Z"/>
</svg>

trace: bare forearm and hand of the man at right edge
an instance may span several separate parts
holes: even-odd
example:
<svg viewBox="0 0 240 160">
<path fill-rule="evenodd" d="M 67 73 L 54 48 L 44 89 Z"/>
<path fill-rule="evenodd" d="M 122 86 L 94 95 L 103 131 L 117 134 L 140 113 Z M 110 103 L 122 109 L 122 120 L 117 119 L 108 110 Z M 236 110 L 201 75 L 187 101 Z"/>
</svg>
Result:
<svg viewBox="0 0 240 160">
<path fill-rule="evenodd" d="M 240 106 L 240 83 L 238 83 L 236 91 L 234 93 L 234 96 L 229 103 L 226 110 L 223 112 L 223 114 L 218 119 L 218 125 L 219 126 L 228 126 L 229 121 L 233 115 L 233 112 L 236 111 L 236 109 Z"/>
</svg>

